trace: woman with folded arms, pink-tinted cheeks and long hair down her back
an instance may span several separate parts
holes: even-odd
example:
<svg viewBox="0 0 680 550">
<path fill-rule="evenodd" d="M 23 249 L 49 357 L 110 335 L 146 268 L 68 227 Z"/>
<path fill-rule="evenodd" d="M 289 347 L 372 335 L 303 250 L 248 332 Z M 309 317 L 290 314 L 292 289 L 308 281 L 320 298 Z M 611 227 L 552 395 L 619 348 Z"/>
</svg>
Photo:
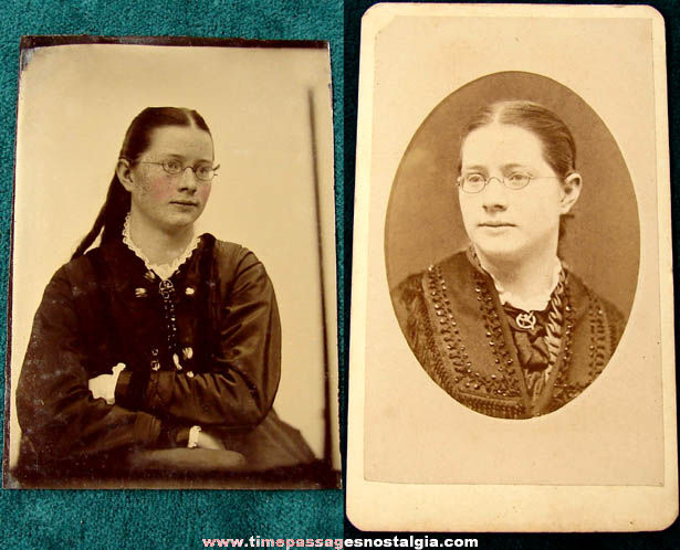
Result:
<svg viewBox="0 0 680 550">
<path fill-rule="evenodd" d="M 272 409 L 281 329 L 263 265 L 193 231 L 217 169 L 196 110 L 130 124 L 106 202 L 35 315 L 17 391 L 28 475 L 314 461 Z"/>
</svg>

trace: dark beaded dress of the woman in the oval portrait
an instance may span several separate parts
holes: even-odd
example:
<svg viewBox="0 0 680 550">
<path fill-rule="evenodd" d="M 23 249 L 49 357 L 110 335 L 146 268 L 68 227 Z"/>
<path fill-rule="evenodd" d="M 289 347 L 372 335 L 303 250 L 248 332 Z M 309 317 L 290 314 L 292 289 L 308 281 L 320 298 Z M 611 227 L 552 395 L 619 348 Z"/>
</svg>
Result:
<svg viewBox="0 0 680 550">
<path fill-rule="evenodd" d="M 543 364 L 545 383 L 535 392 L 527 382 L 541 368 L 533 364 L 544 340 L 541 320 L 535 338 L 519 329 L 515 311 L 501 304 L 493 281 L 468 252 L 408 277 L 393 303 L 414 353 L 447 393 L 490 416 L 527 419 L 580 394 L 607 366 L 625 328 L 623 315 L 576 275 L 566 272 L 564 283 L 557 352 Z"/>
</svg>

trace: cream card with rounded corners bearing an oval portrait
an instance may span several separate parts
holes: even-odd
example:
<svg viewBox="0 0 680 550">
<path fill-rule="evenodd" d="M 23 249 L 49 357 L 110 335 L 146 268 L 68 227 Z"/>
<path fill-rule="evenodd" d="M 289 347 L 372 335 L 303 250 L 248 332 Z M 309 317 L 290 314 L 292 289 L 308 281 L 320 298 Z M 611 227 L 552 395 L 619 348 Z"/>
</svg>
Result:
<svg viewBox="0 0 680 550">
<path fill-rule="evenodd" d="M 364 15 L 358 528 L 649 530 L 677 517 L 665 63 L 651 8 Z"/>
</svg>

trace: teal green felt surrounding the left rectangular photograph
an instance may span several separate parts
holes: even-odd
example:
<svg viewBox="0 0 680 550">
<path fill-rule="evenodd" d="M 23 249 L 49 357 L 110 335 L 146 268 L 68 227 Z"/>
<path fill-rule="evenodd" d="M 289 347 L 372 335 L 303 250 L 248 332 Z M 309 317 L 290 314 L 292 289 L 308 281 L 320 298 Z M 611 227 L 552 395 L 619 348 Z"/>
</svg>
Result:
<svg viewBox="0 0 680 550">
<path fill-rule="evenodd" d="M 9 228 L 22 34 L 243 36 L 331 43 L 342 211 L 343 12 L 339 0 L 11 0 L 0 10 L 0 361 L 7 350 Z M 343 246 L 342 233 L 338 235 Z M 344 255 L 341 251 L 341 257 Z M 338 272 L 342 281 L 345 274 Z M 342 314 L 341 314 L 342 315 Z M 4 388 L 4 377 L 0 381 Z M 343 494 L 312 491 L 0 491 L 1 548 L 203 548 L 202 538 L 336 538 Z"/>
</svg>

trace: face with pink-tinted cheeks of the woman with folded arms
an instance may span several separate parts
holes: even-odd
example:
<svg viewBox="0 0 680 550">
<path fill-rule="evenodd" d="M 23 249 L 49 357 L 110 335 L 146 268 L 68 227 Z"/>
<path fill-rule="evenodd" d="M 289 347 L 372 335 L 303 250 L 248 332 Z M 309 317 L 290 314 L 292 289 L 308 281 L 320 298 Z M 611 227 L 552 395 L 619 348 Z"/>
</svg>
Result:
<svg viewBox="0 0 680 550">
<path fill-rule="evenodd" d="M 185 170 L 167 173 L 161 162 L 176 160 Z M 201 215 L 210 197 L 210 181 L 201 181 L 187 167 L 212 167 L 210 135 L 193 126 L 163 126 L 151 133 L 149 147 L 118 177 L 132 194 L 132 213 L 161 231 L 176 231 Z M 158 162 L 154 163 L 154 162 Z"/>
</svg>

